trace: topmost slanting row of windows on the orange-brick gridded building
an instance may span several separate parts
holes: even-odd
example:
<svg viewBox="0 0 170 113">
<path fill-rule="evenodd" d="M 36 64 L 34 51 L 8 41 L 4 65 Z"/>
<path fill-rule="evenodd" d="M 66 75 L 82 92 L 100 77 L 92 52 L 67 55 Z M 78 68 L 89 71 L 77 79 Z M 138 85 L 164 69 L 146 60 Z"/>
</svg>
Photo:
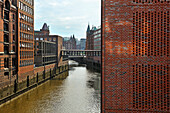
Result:
<svg viewBox="0 0 170 113">
<path fill-rule="evenodd" d="M 30 15 L 33 15 L 33 9 L 30 8 L 29 6 L 27 6 L 26 4 L 22 3 L 22 2 L 19 2 L 19 9 L 27 12 L 28 14 Z"/>
</svg>

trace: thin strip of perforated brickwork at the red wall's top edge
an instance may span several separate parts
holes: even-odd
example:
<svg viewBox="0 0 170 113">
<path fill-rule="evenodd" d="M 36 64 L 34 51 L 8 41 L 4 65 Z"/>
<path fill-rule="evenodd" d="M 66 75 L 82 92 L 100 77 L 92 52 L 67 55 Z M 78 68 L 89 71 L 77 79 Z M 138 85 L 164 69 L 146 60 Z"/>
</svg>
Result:
<svg viewBox="0 0 170 113">
<path fill-rule="evenodd" d="M 169 3 L 169 0 L 133 0 L 135 3 Z"/>
</svg>

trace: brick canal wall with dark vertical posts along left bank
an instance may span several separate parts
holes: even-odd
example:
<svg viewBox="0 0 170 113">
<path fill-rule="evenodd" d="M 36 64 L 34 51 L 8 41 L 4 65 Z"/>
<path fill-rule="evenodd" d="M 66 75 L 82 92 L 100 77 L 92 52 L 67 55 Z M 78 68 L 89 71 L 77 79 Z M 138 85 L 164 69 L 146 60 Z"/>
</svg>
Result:
<svg viewBox="0 0 170 113">
<path fill-rule="evenodd" d="M 58 68 L 55 68 L 54 65 L 49 65 L 45 68 L 35 68 L 33 76 L 27 76 L 27 78 L 22 81 L 17 81 L 16 79 L 11 85 L 0 89 L 0 105 L 54 77 L 57 79 L 65 79 L 68 76 L 68 71 L 68 63 Z"/>
</svg>

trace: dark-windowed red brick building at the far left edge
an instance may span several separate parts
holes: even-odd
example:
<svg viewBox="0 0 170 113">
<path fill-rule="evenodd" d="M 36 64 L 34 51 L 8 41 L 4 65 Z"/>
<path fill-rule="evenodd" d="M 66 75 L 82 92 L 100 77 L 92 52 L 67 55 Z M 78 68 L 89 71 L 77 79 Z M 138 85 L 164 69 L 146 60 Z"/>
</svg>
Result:
<svg viewBox="0 0 170 113">
<path fill-rule="evenodd" d="M 17 73 L 17 6 L 0 0 L 0 86 L 8 84 Z M 4 84 L 4 85 L 5 85 Z"/>
</svg>

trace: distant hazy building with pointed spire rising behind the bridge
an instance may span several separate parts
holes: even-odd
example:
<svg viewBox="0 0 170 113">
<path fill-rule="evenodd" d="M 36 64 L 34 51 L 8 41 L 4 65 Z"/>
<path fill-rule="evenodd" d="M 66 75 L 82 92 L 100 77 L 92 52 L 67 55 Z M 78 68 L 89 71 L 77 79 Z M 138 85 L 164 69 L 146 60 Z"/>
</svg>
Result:
<svg viewBox="0 0 170 113">
<path fill-rule="evenodd" d="M 76 49 L 76 39 L 75 36 L 71 36 L 70 39 L 64 38 L 63 40 L 63 47 L 65 49 Z"/>
</svg>

